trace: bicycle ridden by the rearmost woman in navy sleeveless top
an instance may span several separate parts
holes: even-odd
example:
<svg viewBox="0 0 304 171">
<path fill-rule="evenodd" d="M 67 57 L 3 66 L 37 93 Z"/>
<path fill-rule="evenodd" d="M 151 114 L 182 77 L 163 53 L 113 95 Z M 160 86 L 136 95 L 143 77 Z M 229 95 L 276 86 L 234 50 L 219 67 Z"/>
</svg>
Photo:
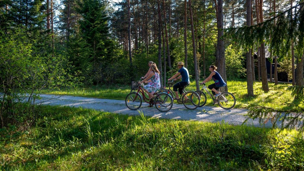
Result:
<svg viewBox="0 0 304 171">
<path fill-rule="evenodd" d="M 206 94 L 203 92 L 203 90 L 206 90 L 206 92 L 210 95 L 210 97 L 213 100 L 213 105 L 215 103 L 218 103 L 219 106 L 223 109 L 232 109 L 236 103 L 235 97 L 233 96 L 233 94 L 231 94 L 230 92 L 220 92 L 221 95 L 219 95 L 218 97 L 214 97 L 212 96 L 212 94 L 209 92 L 208 87 L 206 86 L 205 83 L 201 84 L 203 85 L 202 89 L 200 91 L 195 91 L 199 94 L 200 96 L 200 104 L 199 107 L 202 107 L 206 104 L 207 102 L 207 97 Z"/>
</svg>

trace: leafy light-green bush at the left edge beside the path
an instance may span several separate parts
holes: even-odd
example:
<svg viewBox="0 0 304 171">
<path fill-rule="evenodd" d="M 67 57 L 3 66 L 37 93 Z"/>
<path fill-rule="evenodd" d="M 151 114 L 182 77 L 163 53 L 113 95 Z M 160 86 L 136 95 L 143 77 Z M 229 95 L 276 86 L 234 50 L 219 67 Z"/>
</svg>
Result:
<svg viewBox="0 0 304 171">
<path fill-rule="evenodd" d="M 1 127 L 22 122 L 30 125 L 36 116 L 35 100 L 39 99 L 34 91 L 67 86 L 72 78 L 64 70 L 61 55 L 37 53 L 31 44 L 36 40 L 29 40 L 25 30 L 7 31 L 0 31 Z"/>
</svg>

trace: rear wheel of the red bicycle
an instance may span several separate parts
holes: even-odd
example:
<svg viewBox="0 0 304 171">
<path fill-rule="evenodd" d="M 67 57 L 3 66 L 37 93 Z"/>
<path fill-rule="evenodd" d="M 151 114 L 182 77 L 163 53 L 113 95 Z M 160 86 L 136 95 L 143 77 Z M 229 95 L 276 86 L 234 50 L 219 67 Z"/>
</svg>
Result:
<svg viewBox="0 0 304 171">
<path fill-rule="evenodd" d="M 173 106 L 173 99 L 167 93 L 160 93 L 155 97 L 154 104 L 157 110 L 167 112 Z"/>
</svg>

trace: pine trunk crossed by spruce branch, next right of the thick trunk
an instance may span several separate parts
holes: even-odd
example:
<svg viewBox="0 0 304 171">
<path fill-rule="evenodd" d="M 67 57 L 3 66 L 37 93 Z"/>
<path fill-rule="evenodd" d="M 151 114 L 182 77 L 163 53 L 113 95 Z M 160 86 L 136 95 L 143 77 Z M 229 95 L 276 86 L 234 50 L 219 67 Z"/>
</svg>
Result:
<svg viewBox="0 0 304 171">
<path fill-rule="evenodd" d="M 251 0 L 246 0 L 247 26 L 251 25 Z M 246 54 L 247 96 L 253 96 L 253 79 L 251 71 L 251 50 Z"/>
</svg>

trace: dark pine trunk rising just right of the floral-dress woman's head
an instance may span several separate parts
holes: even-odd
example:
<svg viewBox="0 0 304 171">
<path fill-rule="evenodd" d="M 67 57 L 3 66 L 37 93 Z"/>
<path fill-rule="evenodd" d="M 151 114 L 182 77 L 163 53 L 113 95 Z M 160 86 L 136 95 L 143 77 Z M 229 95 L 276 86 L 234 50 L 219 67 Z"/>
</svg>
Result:
<svg viewBox="0 0 304 171">
<path fill-rule="evenodd" d="M 160 81 L 161 81 L 161 86 L 166 86 L 166 82 L 164 84 L 162 83 L 162 69 L 161 69 L 161 26 L 162 26 L 162 21 L 161 21 L 161 7 L 159 4 L 159 0 L 157 1 L 157 12 L 158 12 L 158 69 L 161 72 L 160 74 Z"/>
</svg>

